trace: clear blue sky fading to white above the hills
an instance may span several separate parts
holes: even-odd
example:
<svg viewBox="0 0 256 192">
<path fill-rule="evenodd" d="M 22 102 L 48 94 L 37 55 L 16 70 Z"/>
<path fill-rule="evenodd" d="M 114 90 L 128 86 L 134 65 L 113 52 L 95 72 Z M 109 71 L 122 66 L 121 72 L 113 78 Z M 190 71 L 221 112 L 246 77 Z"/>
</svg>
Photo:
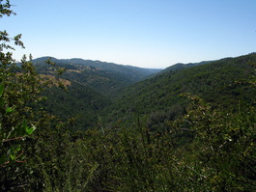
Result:
<svg viewBox="0 0 256 192">
<path fill-rule="evenodd" d="M 82 58 L 142 68 L 256 51 L 256 0 L 11 0 L 14 58 Z"/>
</svg>

